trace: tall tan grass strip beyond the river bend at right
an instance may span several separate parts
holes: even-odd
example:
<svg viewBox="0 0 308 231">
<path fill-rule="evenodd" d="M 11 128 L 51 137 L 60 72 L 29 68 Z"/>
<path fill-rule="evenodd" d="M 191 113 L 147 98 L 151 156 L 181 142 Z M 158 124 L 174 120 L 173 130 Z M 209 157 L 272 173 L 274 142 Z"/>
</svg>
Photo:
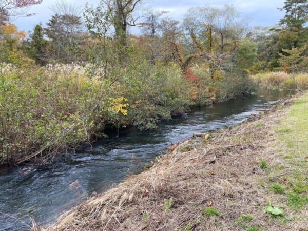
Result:
<svg viewBox="0 0 308 231">
<path fill-rule="evenodd" d="M 300 89 L 308 89 L 307 73 L 297 73 L 293 76 L 293 74 L 287 74 L 283 71 L 276 71 L 254 74 L 250 78 L 259 86 L 271 89 L 295 90 L 296 83 Z"/>
</svg>

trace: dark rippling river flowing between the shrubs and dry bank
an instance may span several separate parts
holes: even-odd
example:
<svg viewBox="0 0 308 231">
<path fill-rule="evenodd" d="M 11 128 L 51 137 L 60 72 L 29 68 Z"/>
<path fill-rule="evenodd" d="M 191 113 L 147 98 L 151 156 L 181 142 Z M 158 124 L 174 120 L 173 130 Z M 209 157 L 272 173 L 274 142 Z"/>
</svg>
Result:
<svg viewBox="0 0 308 231">
<path fill-rule="evenodd" d="M 141 171 L 144 163 L 163 153 L 170 143 L 186 140 L 192 133 L 238 124 L 284 95 L 259 89 L 245 98 L 194 108 L 156 130 L 134 129 L 119 138 L 102 139 L 55 166 L 20 166 L 1 172 L 0 231 L 28 230 L 25 223 L 31 216 L 38 224 L 48 224 L 94 191 L 102 192 Z"/>
</svg>

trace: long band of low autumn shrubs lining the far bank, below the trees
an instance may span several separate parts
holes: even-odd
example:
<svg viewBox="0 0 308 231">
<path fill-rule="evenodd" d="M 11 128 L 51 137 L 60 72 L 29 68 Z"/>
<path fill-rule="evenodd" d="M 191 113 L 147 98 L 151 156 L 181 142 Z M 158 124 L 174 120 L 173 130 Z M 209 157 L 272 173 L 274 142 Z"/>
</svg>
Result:
<svg viewBox="0 0 308 231">
<path fill-rule="evenodd" d="M 249 88 L 245 74 L 131 61 L 108 70 L 94 65 L 23 69 L 0 64 L 0 165 L 50 163 L 84 142 L 128 125 L 155 128 L 160 120 L 236 97 Z"/>
</svg>

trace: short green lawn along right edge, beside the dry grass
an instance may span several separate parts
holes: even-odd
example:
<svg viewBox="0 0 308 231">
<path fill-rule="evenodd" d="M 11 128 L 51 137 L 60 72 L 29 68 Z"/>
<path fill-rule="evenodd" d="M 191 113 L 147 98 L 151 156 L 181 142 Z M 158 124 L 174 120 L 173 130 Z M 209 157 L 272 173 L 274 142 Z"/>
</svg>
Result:
<svg viewBox="0 0 308 231">
<path fill-rule="evenodd" d="M 284 175 L 283 185 L 277 183 L 271 188 L 278 194 L 287 191 L 284 203 L 300 211 L 303 207 L 306 209 L 308 204 L 308 94 L 294 101 L 275 129 L 276 139 L 281 142 L 278 148 L 282 149 L 280 153 L 284 157 L 285 168 L 291 170 Z M 275 172 L 277 175 L 279 173 L 279 170 Z"/>
</svg>

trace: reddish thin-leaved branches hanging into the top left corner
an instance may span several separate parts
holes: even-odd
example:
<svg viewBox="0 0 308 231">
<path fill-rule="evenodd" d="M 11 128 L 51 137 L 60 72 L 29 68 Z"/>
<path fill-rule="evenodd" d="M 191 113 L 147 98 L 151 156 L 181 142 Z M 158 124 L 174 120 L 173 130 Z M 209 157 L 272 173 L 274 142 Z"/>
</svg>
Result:
<svg viewBox="0 0 308 231">
<path fill-rule="evenodd" d="M 43 0 L 0 0 L 0 24 L 9 21 L 10 17 L 24 16 L 30 6 L 41 4 Z M 27 14 L 31 16 L 33 14 Z"/>
</svg>

